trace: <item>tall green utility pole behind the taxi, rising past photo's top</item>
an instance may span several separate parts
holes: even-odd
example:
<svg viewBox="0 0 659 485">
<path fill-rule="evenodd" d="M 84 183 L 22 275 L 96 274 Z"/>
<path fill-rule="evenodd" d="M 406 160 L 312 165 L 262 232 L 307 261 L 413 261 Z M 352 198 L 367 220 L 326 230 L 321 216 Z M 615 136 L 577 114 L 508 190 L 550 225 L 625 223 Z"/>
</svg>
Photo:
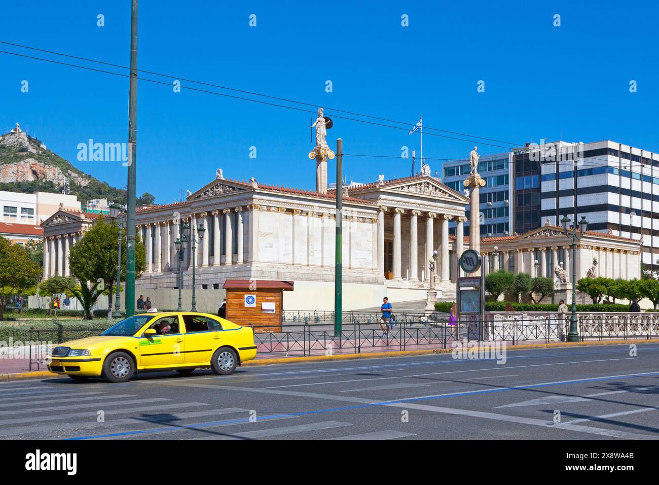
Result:
<svg viewBox="0 0 659 485">
<path fill-rule="evenodd" d="M 126 205 L 126 317 L 135 314 L 135 183 L 137 164 L 137 0 L 130 8 L 130 88 L 128 113 L 128 185 Z"/>
</svg>

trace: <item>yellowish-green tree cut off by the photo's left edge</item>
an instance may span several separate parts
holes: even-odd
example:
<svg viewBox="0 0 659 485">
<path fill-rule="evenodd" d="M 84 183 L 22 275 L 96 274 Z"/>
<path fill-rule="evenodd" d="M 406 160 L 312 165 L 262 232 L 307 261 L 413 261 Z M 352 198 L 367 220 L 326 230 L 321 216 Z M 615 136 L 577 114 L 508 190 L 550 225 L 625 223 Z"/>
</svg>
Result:
<svg viewBox="0 0 659 485">
<path fill-rule="evenodd" d="M 41 268 L 24 247 L 0 237 L 0 320 L 9 298 L 36 285 L 40 276 Z"/>
</svg>

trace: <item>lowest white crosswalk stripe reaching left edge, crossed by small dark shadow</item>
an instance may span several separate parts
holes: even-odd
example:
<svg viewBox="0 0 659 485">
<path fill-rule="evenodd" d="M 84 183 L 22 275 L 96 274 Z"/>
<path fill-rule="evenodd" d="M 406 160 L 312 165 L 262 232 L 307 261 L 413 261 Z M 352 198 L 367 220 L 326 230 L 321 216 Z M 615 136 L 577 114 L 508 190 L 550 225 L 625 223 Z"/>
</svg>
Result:
<svg viewBox="0 0 659 485">
<path fill-rule="evenodd" d="M 189 403 L 188 403 L 189 404 Z M 107 428 L 115 428 L 125 424 L 151 424 L 161 422 L 179 422 L 189 418 L 200 418 L 202 416 L 219 416 L 221 414 L 231 414 L 233 412 L 248 412 L 244 408 L 223 408 L 208 411 L 190 411 L 179 412 L 178 414 L 152 414 L 151 416 L 140 416 L 140 418 L 119 418 L 116 420 L 107 420 L 105 422 L 96 422 L 90 420 L 86 422 L 74 422 L 64 424 L 45 424 L 40 426 L 20 426 L 20 428 L 11 428 L 9 430 L 0 430 L 0 436 L 17 436 L 27 435 L 31 433 L 43 433 L 49 431 L 65 431 L 65 430 L 84 430 L 86 428 L 98 428 L 105 430 Z M 107 413 L 106 413 L 107 414 Z"/>
</svg>

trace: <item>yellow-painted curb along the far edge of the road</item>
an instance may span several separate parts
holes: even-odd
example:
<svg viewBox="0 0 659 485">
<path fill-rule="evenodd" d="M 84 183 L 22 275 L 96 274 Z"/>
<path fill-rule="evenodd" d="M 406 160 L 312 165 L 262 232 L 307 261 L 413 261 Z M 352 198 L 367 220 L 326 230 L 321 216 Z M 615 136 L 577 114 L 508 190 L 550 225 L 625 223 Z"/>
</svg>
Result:
<svg viewBox="0 0 659 485">
<path fill-rule="evenodd" d="M 552 342 L 550 344 L 519 344 L 506 346 L 511 350 L 524 350 L 529 348 L 556 348 L 556 347 L 587 347 L 602 345 L 621 345 L 629 343 L 652 344 L 659 343 L 659 339 L 628 339 L 628 340 L 596 340 L 594 342 Z M 474 347 L 474 351 L 484 349 L 482 346 Z M 328 362 L 331 360 L 358 360 L 358 359 L 375 359 L 385 357 L 405 357 L 417 355 L 432 354 L 450 354 L 452 348 L 427 348 L 422 350 L 395 350 L 393 352 L 368 352 L 365 354 L 338 354 L 332 356 L 306 356 L 306 357 L 282 357 L 273 359 L 248 360 L 243 366 L 272 366 L 275 364 L 304 364 L 305 362 Z M 62 377 L 48 371 L 22 372 L 22 373 L 2 373 L 0 382 L 24 381 L 26 379 L 40 379 L 42 377 Z"/>
</svg>

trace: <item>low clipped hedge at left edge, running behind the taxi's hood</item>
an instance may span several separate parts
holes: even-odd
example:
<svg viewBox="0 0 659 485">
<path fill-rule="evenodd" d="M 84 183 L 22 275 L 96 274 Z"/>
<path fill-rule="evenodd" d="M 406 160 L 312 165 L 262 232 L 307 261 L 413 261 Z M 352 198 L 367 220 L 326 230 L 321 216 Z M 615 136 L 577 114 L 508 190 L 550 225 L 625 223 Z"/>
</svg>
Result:
<svg viewBox="0 0 659 485">
<path fill-rule="evenodd" d="M 42 342 L 52 341 L 55 343 L 67 340 L 94 337 L 101 331 L 111 327 L 116 321 L 107 319 L 98 320 L 63 320 L 63 321 L 31 321 L 31 322 L 3 322 L 0 323 L 0 342 L 9 344 L 9 339 L 27 342 L 30 340 L 30 327 L 34 327 L 32 340 L 37 340 L 36 331 L 40 331 L 39 339 Z"/>
</svg>

